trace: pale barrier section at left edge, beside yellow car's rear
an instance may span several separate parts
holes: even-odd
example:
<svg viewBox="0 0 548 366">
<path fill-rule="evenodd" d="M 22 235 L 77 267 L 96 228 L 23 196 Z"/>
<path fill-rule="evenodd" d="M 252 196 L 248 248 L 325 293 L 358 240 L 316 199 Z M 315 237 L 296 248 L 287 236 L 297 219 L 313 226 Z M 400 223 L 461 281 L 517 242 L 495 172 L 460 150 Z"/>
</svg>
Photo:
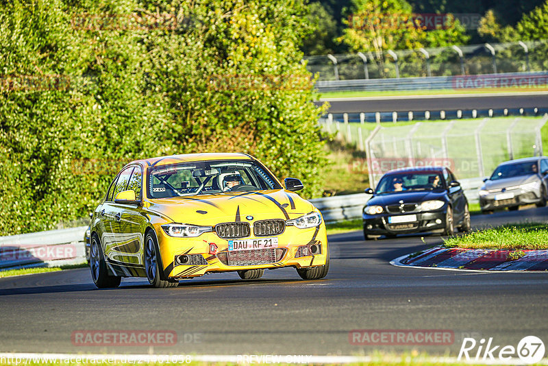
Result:
<svg viewBox="0 0 548 366">
<path fill-rule="evenodd" d="M 0 236 L 0 268 L 82 263 L 87 228 Z"/>
</svg>

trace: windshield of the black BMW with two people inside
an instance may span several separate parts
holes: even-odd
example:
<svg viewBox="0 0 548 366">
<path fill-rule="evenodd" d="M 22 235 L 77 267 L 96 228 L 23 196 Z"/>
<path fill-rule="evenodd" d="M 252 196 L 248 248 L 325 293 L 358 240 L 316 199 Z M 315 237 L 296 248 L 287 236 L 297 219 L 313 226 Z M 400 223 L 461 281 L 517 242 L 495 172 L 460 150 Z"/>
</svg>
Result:
<svg viewBox="0 0 548 366">
<path fill-rule="evenodd" d="M 384 175 L 375 194 L 397 193 L 402 191 L 434 191 L 444 189 L 441 173 L 401 173 Z"/>
</svg>

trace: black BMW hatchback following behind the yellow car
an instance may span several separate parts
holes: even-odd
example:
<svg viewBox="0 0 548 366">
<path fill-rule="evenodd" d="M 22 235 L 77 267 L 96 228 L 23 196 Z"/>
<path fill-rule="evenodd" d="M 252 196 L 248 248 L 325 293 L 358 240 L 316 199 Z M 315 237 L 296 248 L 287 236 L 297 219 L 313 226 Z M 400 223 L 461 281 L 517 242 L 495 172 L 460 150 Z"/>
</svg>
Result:
<svg viewBox="0 0 548 366">
<path fill-rule="evenodd" d="M 460 183 L 446 167 L 389 171 L 363 210 L 364 237 L 414 232 L 452 235 L 470 230 L 468 202 Z"/>
</svg>

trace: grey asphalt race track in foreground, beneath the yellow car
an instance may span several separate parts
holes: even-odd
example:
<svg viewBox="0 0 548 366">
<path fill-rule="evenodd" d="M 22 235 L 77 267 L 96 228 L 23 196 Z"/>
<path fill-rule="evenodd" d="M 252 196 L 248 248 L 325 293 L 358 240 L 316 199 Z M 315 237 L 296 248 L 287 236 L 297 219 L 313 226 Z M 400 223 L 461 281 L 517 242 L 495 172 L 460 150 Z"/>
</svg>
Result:
<svg viewBox="0 0 548 366">
<path fill-rule="evenodd" d="M 547 221 L 548 208 L 473 216 L 473 225 Z M 214 274 L 152 289 L 123 280 L 98 290 L 88 269 L 0 279 L 1 352 L 155 354 L 369 354 L 416 349 L 456 356 L 462 337 L 514 345 L 548 340 L 548 273 L 475 273 L 394 267 L 394 258 L 440 243 L 421 235 L 365 242 L 330 236 L 327 278 L 294 269 L 260 280 Z M 352 345 L 349 331 L 451 330 L 451 345 Z M 170 346 L 74 345 L 82 330 L 171 330 Z"/>
</svg>

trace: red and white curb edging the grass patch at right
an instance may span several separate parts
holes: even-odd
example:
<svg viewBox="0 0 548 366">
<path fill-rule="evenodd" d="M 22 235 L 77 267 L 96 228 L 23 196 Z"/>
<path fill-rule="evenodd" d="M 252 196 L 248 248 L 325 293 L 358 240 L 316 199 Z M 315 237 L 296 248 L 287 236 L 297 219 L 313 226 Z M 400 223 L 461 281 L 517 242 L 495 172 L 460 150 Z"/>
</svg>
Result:
<svg viewBox="0 0 548 366">
<path fill-rule="evenodd" d="M 398 267 L 459 269 L 464 271 L 548 271 L 548 250 L 523 249 L 525 256 L 510 260 L 508 249 L 433 247 L 390 261 Z"/>
</svg>

